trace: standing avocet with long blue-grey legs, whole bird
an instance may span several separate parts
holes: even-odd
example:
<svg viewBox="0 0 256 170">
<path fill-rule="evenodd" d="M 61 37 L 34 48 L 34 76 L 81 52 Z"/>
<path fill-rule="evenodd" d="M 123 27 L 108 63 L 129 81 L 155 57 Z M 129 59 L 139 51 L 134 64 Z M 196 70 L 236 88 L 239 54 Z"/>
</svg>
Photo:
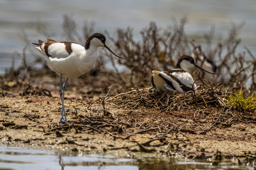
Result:
<svg viewBox="0 0 256 170">
<path fill-rule="evenodd" d="M 59 93 L 62 103 L 60 121 L 65 121 L 66 123 L 68 122 L 64 107 L 64 91 L 68 82 L 68 78 L 77 78 L 78 76 L 85 74 L 87 71 L 92 69 L 97 59 L 98 46 L 104 46 L 106 49 L 112 52 L 112 50 L 106 46 L 105 41 L 106 38 L 104 35 L 101 33 L 94 33 L 88 38 L 85 46 L 68 41 L 56 42 L 55 40 L 51 39 L 47 39 L 45 42 L 38 40 L 39 44 L 33 43 L 38 45 L 36 46 L 36 49 L 38 49 L 39 52 L 43 54 L 49 69 L 60 75 Z M 113 54 L 117 56 L 115 53 Z M 63 86 L 62 76 L 67 77 Z M 63 113 L 65 119 L 63 118 Z"/>
</svg>

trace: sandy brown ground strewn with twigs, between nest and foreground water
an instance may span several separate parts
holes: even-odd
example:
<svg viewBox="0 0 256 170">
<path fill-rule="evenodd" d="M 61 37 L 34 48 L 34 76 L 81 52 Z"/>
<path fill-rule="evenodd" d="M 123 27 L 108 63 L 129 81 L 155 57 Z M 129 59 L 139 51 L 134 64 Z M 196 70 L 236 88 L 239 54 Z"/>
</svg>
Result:
<svg viewBox="0 0 256 170">
<path fill-rule="evenodd" d="M 104 109 L 102 97 L 106 94 L 85 99 L 84 94 L 69 88 L 65 124 L 58 122 L 61 103 L 57 88 L 48 87 L 52 97 L 36 92 L 2 92 L 1 145 L 57 149 L 71 154 L 147 153 L 153 157 L 181 155 L 246 162 L 256 158 L 256 124 L 245 119 L 251 116 L 253 120 L 254 113 L 227 112 L 218 105 L 203 104 L 181 105 L 168 112 L 143 105 L 129 107 L 129 103 L 115 102 L 111 91 Z M 126 100 L 129 96 L 118 97 Z"/>
</svg>

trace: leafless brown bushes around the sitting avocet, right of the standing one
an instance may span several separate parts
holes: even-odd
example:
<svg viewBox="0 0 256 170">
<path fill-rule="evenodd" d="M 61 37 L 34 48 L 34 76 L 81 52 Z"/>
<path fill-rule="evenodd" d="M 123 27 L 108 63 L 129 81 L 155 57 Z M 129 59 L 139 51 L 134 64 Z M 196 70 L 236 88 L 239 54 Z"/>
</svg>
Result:
<svg viewBox="0 0 256 170">
<path fill-rule="evenodd" d="M 184 54 L 190 56 L 193 53 L 213 61 L 216 70 L 221 73 L 216 81 L 222 82 L 230 92 L 244 90 L 246 95 L 252 94 L 256 90 L 256 58 L 246 47 L 247 53 L 236 52 L 241 43 L 237 33 L 244 23 L 233 25 L 228 37 L 218 42 L 213 42 L 214 28 L 212 28 L 208 34 L 204 35 L 207 47 L 203 48 L 203 45 L 196 44 L 195 40 L 188 41 L 184 32 L 186 22 L 187 18 L 183 18 L 180 23 L 176 22 L 168 28 L 159 28 L 151 22 L 148 27 L 142 29 L 141 41 L 134 40 L 133 29 L 130 27 L 118 29 L 117 38 L 111 40 L 117 47 L 118 54 L 126 58 L 126 61 L 119 60 L 119 63 L 129 68 L 132 86 L 141 88 L 150 80 L 148 77 L 151 76 L 152 70 L 172 69 L 178 58 Z"/>
</svg>

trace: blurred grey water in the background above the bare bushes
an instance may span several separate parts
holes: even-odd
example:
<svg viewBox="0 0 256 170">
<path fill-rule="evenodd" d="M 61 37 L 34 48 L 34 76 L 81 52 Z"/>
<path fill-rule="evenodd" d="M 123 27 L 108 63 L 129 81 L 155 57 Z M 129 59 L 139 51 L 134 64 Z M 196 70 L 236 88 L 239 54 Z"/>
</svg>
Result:
<svg viewBox="0 0 256 170">
<path fill-rule="evenodd" d="M 11 66 L 12 61 L 15 66 L 22 62 L 14 52 L 22 53 L 26 45 L 22 40 L 24 33 L 31 42 L 46 39 L 38 32 L 39 25 L 41 28 L 44 26 L 52 39 L 64 41 L 64 14 L 76 21 L 79 34 L 82 34 L 82 27 L 86 22 L 94 22 L 95 32 L 108 31 L 110 36 L 115 36 L 118 28 L 130 26 L 134 29 L 135 40 L 141 39 L 140 31 L 151 21 L 158 27 L 167 28 L 186 16 L 188 22 L 184 31 L 188 41 L 194 39 L 201 45 L 205 43 L 203 36 L 211 29 L 214 28 L 215 39 L 221 40 L 228 36 L 230 28 L 241 25 L 238 37 L 242 41 L 237 52 L 245 51 L 243 46 L 247 46 L 253 55 L 256 54 L 254 0 L 0 0 L 0 74 Z M 107 40 L 107 44 L 110 43 Z M 33 59 L 26 57 L 28 60 Z"/>
</svg>

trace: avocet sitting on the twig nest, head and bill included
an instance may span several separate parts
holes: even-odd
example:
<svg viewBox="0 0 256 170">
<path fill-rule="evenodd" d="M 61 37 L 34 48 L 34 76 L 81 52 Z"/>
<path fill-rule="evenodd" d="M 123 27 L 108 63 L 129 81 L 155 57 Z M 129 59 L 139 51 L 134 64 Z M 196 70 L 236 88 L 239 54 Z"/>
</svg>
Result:
<svg viewBox="0 0 256 170">
<path fill-rule="evenodd" d="M 182 56 L 177 61 L 176 69 L 168 71 L 153 70 L 151 77 L 152 87 L 150 87 L 148 91 L 171 91 L 182 93 L 192 91 L 193 89 L 197 90 L 196 83 L 189 73 L 189 70 L 195 67 L 204 70 L 195 64 L 195 61 L 191 56 Z M 210 73 L 209 71 L 206 72 Z"/>
</svg>

